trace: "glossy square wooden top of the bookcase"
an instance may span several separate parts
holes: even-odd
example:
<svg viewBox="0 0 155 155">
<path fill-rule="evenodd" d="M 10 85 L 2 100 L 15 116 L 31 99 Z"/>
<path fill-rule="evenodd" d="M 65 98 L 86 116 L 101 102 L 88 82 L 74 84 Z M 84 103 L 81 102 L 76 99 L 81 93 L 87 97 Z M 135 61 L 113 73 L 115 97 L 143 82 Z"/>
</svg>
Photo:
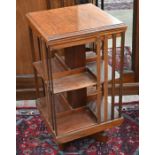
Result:
<svg viewBox="0 0 155 155">
<path fill-rule="evenodd" d="M 46 42 L 66 37 L 126 27 L 93 4 L 28 13 L 27 19 Z"/>
</svg>

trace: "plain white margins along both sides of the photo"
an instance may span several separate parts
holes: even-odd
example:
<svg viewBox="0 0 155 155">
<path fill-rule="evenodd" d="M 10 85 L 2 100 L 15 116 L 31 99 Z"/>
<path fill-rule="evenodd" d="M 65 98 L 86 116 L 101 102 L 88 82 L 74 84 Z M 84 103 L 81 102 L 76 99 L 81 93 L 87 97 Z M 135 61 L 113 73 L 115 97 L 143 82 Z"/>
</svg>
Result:
<svg viewBox="0 0 155 155">
<path fill-rule="evenodd" d="M 155 1 L 140 8 L 140 155 L 155 148 Z M 0 3 L 0 154 L 16 154 L 16 1 Z"/>
</svg>

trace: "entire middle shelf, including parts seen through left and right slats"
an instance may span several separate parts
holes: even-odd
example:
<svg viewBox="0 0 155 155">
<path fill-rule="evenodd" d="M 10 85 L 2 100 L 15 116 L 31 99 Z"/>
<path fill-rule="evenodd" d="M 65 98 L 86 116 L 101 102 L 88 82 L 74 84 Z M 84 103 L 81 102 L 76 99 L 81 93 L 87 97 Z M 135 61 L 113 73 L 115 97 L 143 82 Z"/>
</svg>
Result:
<svg viewBox="0 0 155 155">
<path fill-rule="evenodd" d="M 48 78 L 45 76 L 45 71 L 41 61 L 33 63 L 37 73 L 44 82 L 48 82 Z M 100 62 L 101 66 L 101 83 L 104 83 L 104 61 Z M 97 84 L 97 70 L 96 62 L 90 62 L 86 65 L 87 68 L 81 67 L 76 69 L 64 70 L 61 72 L 53 73 L 53 93 L 62 93 L 66 91 L 77 90 L 94 86 Z M 115 71 L 115 79 L 119 79 L 119 72 Z M 108 81 L 112 80 L 112 67 L 108 65 Z"/>
</svg>

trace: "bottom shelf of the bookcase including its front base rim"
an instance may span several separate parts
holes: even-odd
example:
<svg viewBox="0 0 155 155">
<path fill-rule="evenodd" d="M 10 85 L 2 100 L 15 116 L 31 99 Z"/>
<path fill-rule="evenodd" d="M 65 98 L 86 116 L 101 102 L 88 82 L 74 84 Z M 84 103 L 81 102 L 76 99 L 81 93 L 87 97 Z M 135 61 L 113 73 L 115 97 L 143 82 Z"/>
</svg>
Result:
<svg viewBox="0 0 155 155">
<path fill-rule="evenodd" d="M 39 100 L 38 100 L 39 101 Z M 52 124 L 48 120 L 48 113 L 45 103 L 37 102 L 37 107 L 46 123 L 47 128 L 55 135 Z M 123 118 L 117 118 L 98 124 L 95 115 L 88 107 L 68 109 L 57 113 L 57 130 L 55 135 L 58 144 L 66 143 L 78 138 L 102 132 L 106 129 L 118 126 Z"/>
</svg>

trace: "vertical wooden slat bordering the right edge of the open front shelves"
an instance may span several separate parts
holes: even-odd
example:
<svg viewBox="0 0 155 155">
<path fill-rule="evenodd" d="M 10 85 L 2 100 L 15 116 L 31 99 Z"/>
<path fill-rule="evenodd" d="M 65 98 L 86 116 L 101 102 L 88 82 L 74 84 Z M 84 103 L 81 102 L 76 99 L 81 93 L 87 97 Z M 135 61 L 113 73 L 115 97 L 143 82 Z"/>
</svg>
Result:
<svg viewBox="0 0 155 155">
<path fill-rule="evenodd" d="M 101 67 L 100 67 L 100 61 L 101 61 L 101 56 L 100 56 L 100 49 L 101 49 L 101 40 L 98 38 L 96 42 L 96 54 L 97 54 L 97 120 L 98 123 L 101 122 L 101 93 L 100 93 L 100 81 L 101 81 Z"/>
</svg>

